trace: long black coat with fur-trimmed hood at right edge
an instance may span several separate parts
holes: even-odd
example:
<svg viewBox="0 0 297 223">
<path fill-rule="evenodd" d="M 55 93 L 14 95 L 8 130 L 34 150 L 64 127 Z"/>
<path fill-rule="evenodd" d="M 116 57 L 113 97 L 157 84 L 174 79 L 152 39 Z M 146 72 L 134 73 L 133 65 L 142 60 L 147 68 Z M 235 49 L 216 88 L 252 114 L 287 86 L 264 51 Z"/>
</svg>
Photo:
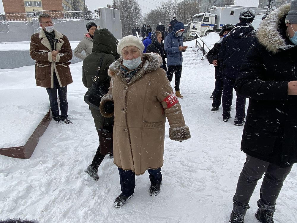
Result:
<svg viewBox="0 0 297 223">
<path fill-rule="evenodd" d="M 297 80 L 297 46 L 286 36 L 290 5 L 271 12 L 261 23 L 235 83 L 238 95 L 249 98 L 241 150 L 280 165 L 297 162 L 297 96 L 288 82 Z"/>
</svg>

